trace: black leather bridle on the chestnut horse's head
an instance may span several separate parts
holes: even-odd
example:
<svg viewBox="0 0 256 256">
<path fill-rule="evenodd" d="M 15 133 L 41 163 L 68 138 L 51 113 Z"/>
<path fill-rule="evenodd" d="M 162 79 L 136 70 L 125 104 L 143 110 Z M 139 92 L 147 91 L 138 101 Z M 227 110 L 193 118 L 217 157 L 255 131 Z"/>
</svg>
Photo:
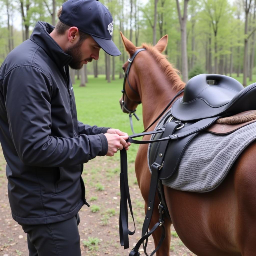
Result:
<svg viewBox="0 0 256 256">
<path fill-rule="evenodd" d="M 135 114 L 136 112 L 136 109 L 134 110 L 131 110 L 129 108 L 127 108 L 125 102 L 124 102 L 124 95 L 126 95 L 127 98 L 128 95 L 125 91 L 125 82 L 126 82 L 126 79 L 127 79 L 127 83 L 130 87 L 130 89 L 134 92 L 134 94 L 136 94 L 137 96 L 140 96 L 131 86 L 130 84 L 130 81 L 129 81 L 129 72 L 130 72 L 130 68 L 131 68 L 131 65 L 132 65 L 132 62 L 134 60 L 134 58 L 136 57 L 136 55 L 141 52 L 141 51 L 145 51 L 146 49 L 145 48 L 141 48 L 141 49 L 138 49 L 134 52 L 133 56 L 131 58 L 128 59 L 128 66 L 127 66 L 127 69 L 125 71 L 125 75 L 124 75 L 124 83 L 123 83 L 123 90 L 122 90 L 122 93 L 123 93 L 123 100 L 122 100 L 122 106 L 123 108 L 129 113 L 129 118 L 130 118 L 130 125 L 131 125 L 131 130 L 133 132 L 133 134 L 135 133 L 134 130 L 133 130 L 133 124 L 132 124 L 132 115 L 135 116 L 135 118 L 139 121 L 140 119 L 138 118 L 138 116 Z M 134 101 L 135 103 L 138 103 L 138 104 L 141 104 L 141 101 Z"/>
</svg>

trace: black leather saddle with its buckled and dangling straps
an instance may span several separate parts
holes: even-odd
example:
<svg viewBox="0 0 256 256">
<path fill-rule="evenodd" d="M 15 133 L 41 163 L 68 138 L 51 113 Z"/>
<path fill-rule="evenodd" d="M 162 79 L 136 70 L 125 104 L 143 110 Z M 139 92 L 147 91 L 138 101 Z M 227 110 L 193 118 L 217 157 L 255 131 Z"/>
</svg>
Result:
<svg viewBox="0 0 256 256">
<path fill-rule="evenodd" d="M 218 74 L 200 74 L 191 78 L 184 89 L 184 95 L 175 100 L 172 105 L 171 116 L 167 116 L 163 122 L 162 127 L 158 127 L 156 131 L 144 132 L 134 134 L 127 140 L 131 143 L 145 144 L 153 143 L 149 152 L 149 163 L 152 170 L 149 198 L 147 203 L 146 217 L 142 228 L 142 238 L 134 249 L 130 252 L 129 256 L 138 256 L 140 245 L 143 241 L 154 232 L 157 227 L 162 226 L 164 215 L 169 216 L 163 194 L 163 186 L 161 180 L 171 177 L 179 165 L 179 161 L 184 153 L 189 142 L 200 132 L 207 129 L 214 133 L 219 133 L 218 127 L 215 122 L 220 117 L 231 116 L 243 111 L 256 109 L 256 83 L 244 88 L 237 80 Z M 252 121 L 251 121 L 252 122 Z M 249 124 L 247 122 L 240 125 L 227 126 L 220 133 L 229 133 L 239 127 Z M 211 127 L 211 128 L 210 128 Z M 150 141 L 137 141 L 136 137 L 154 134 L 153 139 Z M 126 152 L 121 152 L 121 174 L 122 168 L 127 168 L 125 162 Z M 126 171 L 124 171 L 125 173 Z M 124 175 L 125 176 L 125 175 Z M 125 177 L 122 180 L 127 180 Z M 120 182 L 121 183 L 121 182 Z M 129 187 L 128 183 L 120 185 L 121 187 L 121 204 L 120 204 L 120 241 L 121 244 L 127 248 L 127 237 L 132 232 L 128 229 L 127 217 L 127 200 L 129 202 L 130 211 L 132 214 L 131 204 L 129 201 Z M 127 191 L 128 187 L 128 191 Z M 155 226 L 148 231 L 151 221 L 155 194 L 158 188 L 159 199 L 159 221 Z M 124 205 L 126 205 L 126 208 Z M 126 222 L 127 221 L 127 222 Z M 153 255 L 155 251 L 161 246 L 165 237 L 164 226 L 162 226 L 162 237 L 159 241 L 157 248 L 150 254 Z M 146 255 L 146 244 L 143 244 L 144 252 Z M 128 242 L 129 247 L 129 242 Z"/>
</svg>

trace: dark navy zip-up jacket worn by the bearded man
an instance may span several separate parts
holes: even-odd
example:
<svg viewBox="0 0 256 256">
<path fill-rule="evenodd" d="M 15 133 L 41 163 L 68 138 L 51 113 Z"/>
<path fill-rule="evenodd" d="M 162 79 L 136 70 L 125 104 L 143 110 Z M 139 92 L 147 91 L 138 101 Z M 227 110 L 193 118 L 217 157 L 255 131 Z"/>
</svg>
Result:
<svg viewBox="0 0 256 256">
<path fill-rule="evenodd" d="M 108 151 L 106 127 L 77 120 L 65 54 L 38 22 L 0 68 L 0 141 L 12 216 L 21 224 L 72 218 L 85 200 L 83 163 Z"/>
</svg>

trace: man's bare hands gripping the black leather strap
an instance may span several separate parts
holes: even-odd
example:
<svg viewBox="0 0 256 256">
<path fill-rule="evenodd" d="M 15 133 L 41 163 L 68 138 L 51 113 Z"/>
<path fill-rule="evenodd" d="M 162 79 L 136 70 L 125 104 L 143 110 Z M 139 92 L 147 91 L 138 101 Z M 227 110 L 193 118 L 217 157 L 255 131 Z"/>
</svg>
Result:
<svg viewBox="0 0 256 256">
<path fill-rule="evenodd" d="M 118 129 L 110 128 L 104 135 L 108 140 L 107 156 L 113 156 L 118 151 L 118 149 L 122 150 L 125 148 L 125 150 L 128 150 L 129 146 L 131 145 L 130 142 L 125 141 L 129 137 L 128 134 Z"/>
</svg>

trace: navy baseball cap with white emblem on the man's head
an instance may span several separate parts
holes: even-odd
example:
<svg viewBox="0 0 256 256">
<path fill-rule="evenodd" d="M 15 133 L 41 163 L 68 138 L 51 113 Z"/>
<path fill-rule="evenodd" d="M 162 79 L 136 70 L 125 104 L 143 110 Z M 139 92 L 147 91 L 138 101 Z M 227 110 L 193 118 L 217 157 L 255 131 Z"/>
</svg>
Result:
<svg viewBox="0 0 256 256">
<path fill-rule="evenodd" d="M 109 55 L 121 54 L 112 41 L 112 15 L 98 0 L 68 0 L 62 5 L 59 19 L 68 26 L 75 26 L 82 32 L 91 35 Z"/>
</svg>

